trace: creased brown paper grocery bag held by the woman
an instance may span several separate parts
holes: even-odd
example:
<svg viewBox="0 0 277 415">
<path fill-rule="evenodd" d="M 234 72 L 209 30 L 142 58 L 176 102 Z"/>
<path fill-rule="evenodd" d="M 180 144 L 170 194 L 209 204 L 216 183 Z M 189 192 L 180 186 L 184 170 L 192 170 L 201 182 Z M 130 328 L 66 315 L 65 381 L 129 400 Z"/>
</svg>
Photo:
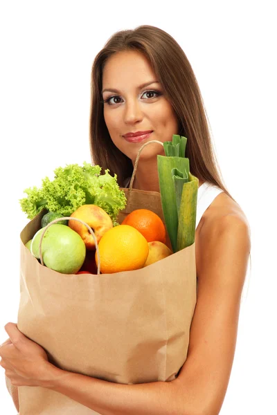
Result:
<svg viewBox="0 0 277 415">
<path fill-rule="evenodd" d="M 139 208 L 164 222 L 159 193 L 124 191 L 120 223 Z M 43 213 L 21 232 L 19 330 L 66 371 L 123 384 L 175 379 L 196 303 L 195 243 L 140 270 L 64 275 L 39 264 L 24 246 Z M 19 387 L 19 408 L 20 415 L 97 414 L 42 387 Z"/>
</svg>

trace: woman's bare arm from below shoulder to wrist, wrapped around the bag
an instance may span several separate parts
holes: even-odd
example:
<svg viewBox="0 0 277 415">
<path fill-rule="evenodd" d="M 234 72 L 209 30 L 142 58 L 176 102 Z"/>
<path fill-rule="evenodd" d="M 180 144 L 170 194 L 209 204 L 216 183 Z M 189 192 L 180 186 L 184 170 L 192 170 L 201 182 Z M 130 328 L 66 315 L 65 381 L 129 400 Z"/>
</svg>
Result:
<svg viewBox="0 0 277 415">
<path fill-rule="evenodd" d="M 217 415 L 231 374 L 240 297 L 250 252 L 249 228 L 222 216 L 202 228 L 197 305 L 188 358 L 172 382 L 120 385 L 51 368 L 44 387 L 102 415 Z"/>
</svg>

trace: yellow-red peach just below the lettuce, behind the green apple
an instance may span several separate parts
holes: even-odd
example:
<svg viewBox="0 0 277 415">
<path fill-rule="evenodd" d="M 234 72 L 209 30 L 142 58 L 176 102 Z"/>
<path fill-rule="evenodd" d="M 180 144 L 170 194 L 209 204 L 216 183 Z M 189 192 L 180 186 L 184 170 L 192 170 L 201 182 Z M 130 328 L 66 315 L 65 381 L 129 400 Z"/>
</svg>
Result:
<svg viewBox="0 0 277 415">
<path fill-rule="evenodd" d="M 93 230 L 97 242 L 100 241 L 103 234 L 105 234 L 107 230 L 113 228 L 113 223 L 110 216 L 98 205 L 82 205 L 70 216 L 73 218 L 81 219 L 81 221 L 87 223 Z M 86 246 L 87 250 L 96 249 L 93 236 L 87 229 L 87 226 L 78 221 L 69 220 L 69 227 L 80 234 L 80 237 L 84 241 L 84 245 Z"/>
</svg>

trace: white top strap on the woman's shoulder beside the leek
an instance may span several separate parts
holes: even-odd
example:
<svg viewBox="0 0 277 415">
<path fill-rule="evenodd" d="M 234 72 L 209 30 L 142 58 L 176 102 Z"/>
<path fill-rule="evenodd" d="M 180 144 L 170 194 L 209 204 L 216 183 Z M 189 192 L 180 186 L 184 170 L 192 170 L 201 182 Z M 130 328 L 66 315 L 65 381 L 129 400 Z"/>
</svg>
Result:
<svg viewBox="0 0 277 415">
<path fill-rule="evenodd" d="M 125 180 L 124 187 L 129 187 L 129 183 L 131 181 L 131 178 L 128 177 Z M 204 182 L 201 186 L 198 188 L 198 194 L 197 194 L 197 211 L 196 211 L 196 223 L 195 223 L 195 229 L 199 225 L 199 222 L 205 212 L 206 209 L 211 205 L 211 203 L 214 201 L 216 196 L 223 192 L 220 187 L 217 187 L 215 185 L 211 185 L 211 183 Z"/>
</svg>

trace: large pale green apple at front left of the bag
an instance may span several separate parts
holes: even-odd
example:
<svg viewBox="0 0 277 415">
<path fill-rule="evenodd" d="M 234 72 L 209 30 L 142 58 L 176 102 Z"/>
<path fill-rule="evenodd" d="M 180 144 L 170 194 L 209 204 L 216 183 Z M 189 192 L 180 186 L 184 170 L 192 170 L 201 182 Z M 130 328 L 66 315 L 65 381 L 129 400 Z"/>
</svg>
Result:
<svg viewBox="0 0 277 415">
<path fill-rule="evenodd" d="M 30 246 L 30 252 L 37 259 L 39 259 L 39 241 L 44 228 L 37 231 Z M 86 246 L 75 230 L 58 223 L 49 226 L 42 241 L 44 265 L 58 273 L 75 274 L 80 270 L 85 257 Z"/>
</svg>

